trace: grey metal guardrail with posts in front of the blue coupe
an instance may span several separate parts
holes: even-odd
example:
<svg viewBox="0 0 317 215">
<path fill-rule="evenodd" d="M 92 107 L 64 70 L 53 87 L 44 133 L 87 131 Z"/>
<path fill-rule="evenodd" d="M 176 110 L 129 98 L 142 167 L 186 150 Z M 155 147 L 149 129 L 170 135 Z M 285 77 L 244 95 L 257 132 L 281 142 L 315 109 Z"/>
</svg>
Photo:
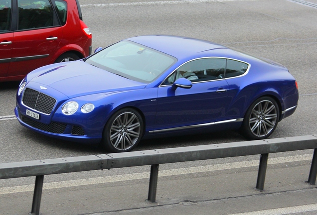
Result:
<svg viewBox="0 0 317 215">
<path fill-rule="evenodd" d="M 159 164 L 261 155 L 256 188 L 264 189 L 269 153 L 315 149 L 307 183 L 317 177 L 317 135 L 0 164 L 0 179 L 36 176 L 30 215 L 39 215 L 44 175 L 151 165 L 148 200 L 156 201 Z"/>
</svg>

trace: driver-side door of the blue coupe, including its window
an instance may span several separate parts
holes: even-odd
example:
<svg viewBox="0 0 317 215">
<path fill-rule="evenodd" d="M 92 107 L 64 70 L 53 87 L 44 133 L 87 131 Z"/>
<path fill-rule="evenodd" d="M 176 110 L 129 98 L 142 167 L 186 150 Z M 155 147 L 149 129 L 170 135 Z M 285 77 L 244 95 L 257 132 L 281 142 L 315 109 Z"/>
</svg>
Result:
<svg viewBox="0 0 317 215">
<path fill-rule="evenodd" d="M 190 61 L 166 79 L 158 90 L 155 131 L 215 122 L 227 104 L 228 84 L 223 79 L 225 62 L 219 58 Z M 182 68 L 186 68 L 185 78 L 191 80 L 192 87 L 173 90 L 168 82 L 172 77 L 181 77 L 177 73 Z M 193 74 L 188 76 L 190 73 Z M 193 79 L 193 76 L 197 78 Z"/>
</svg>

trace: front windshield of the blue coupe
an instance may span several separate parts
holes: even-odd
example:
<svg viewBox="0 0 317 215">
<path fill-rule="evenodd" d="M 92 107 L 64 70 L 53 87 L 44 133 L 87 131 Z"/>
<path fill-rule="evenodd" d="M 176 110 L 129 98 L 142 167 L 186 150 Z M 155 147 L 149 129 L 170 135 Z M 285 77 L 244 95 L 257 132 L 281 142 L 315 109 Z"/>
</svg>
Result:
<svg viewBox="0 0 317 215">
<path fill-rule="evenodd" d="M 128 40 L 86 59 L 86 63 L 93 66 L 144 83 L 158 78 L 175 62 L 176 58 L 172 56 Z"/>
</svg>

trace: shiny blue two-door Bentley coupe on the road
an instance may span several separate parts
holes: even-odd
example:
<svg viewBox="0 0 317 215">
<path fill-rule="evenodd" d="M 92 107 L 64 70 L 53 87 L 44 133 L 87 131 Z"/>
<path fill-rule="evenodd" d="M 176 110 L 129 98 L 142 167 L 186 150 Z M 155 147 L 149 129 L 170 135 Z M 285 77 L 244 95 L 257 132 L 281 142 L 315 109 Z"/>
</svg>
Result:
<svg viewBox="0 0 317 215">
<path fill-rule="evenodd" d="M 166 35 L 122 40 L 21 82 L 15 114 L 34 131 L 132 150 L 141 138 L 236 129 L 264 139 L 297 108 L 287 68 L 209 41 Z"/>
</svg>

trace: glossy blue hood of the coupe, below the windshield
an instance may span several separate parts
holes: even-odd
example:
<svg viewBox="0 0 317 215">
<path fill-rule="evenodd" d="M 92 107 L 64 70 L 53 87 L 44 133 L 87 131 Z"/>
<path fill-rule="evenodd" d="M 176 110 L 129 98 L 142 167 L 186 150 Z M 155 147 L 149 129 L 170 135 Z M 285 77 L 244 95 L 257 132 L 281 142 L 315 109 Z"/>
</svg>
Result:
<svg viewBox="0 0 317 215">
<path fill-rule="evenodd" d="M 33 76 L 33 77 L 32 77 Z M 95 93 L 142 89 L 145 83 L 102 70 L 83 61 L 53 64 L 28 75 L 30 82 L 53 88 L 69 98 Z"/>
</svg>

